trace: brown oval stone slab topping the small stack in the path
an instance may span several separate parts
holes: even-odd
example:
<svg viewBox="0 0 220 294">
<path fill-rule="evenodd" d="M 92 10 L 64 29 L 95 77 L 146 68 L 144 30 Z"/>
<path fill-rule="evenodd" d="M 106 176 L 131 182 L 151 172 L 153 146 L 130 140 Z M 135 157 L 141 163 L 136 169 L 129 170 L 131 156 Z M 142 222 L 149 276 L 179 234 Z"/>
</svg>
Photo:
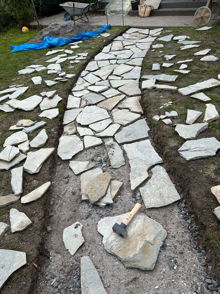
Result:
<svg viewBox="0 0 220 294">
<path fill-rule="evenodd" d="M 87 184 L 86 195 L 89 197 L 90 203 L 95 203 L 105 196 L 110 181 L 111 175 L 108 172 L 103 172 Z"/>
</svg>

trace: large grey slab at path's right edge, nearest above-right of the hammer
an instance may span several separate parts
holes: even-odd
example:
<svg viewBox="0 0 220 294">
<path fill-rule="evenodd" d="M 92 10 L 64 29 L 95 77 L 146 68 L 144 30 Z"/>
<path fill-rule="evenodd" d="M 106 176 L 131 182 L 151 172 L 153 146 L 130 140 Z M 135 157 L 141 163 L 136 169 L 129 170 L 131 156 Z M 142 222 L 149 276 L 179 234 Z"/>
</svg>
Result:
<svg viewBox="0 0 220 294">
<path fill-rule="evenodd" d="M 169 205 L 180 199 L 167 171 L 160 165 L 151 169 L 152 177 L 140 188 L 146 208 Z"/>
</svg>

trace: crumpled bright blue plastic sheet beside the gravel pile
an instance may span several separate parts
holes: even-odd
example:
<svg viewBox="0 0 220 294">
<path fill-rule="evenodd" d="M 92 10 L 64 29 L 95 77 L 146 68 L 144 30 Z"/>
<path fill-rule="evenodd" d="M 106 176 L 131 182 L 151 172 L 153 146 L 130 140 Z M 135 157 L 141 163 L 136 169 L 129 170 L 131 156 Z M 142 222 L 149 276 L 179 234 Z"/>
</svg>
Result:
<svg viewBox="0 0 220 294">
<path fill-rule="evenodd" d="M 111 25 L 102 25 L 101 30 L 99 31 L 80 33 L 74 38 L 52 38 L 52 37 L 46 36 L 43 39 L 42 43 L 35 43 L 35 44 L 24 43 L 24 44 L 15 45 L 15 46 L 10 45 L 10 48 L 13 49 L 11 52 L 18 52 L 18 51 L 24 51 L 24 50 L 38 50 L 38 49 L 44 49 L 44 48 L 59 47 L 69 43 L 91 39 L 105 31 L 108 31 L 110 28 L 111 28 Z"/>
</svg>

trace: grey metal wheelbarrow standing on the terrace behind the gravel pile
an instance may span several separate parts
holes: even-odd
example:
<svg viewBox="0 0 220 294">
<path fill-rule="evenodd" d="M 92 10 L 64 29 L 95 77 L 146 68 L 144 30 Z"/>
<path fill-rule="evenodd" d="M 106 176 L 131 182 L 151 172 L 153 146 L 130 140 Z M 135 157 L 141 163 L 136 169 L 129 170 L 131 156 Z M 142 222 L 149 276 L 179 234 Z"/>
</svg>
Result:
<svg viewBox="0 0 220 294">
<path fill-rule="evenodd" d="M 65 2 L 60 4 L 66 12 L 64 13 L 64 18 L 66 18 L 68 21 L 75 21 L 81 19 L 84 22 L 88 22 L 89 19 L 86 15 L 90 11 L 90 9 L 97 9 L 99 2 L 101 0 L 98 0 L 94 3 L 87 4 L 87 3 L 79 3 L 79 2 Z"/>
</svg>

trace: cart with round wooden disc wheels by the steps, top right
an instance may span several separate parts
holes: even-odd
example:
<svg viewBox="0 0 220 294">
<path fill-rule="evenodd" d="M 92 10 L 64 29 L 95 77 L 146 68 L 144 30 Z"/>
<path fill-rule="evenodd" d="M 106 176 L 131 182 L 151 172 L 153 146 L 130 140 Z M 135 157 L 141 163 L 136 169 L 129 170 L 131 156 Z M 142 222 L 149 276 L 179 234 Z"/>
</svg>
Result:
<svg viewBox="0 0 220 294">
<path fill-rule="evenodd" d="M 220 5 L 216 1 L 208 0 L 206 6 L 196 10 L 194 21 L 196 25 L 207 25 L 211 19 L 215 19 L 220 12 Z"/>
</svg>

